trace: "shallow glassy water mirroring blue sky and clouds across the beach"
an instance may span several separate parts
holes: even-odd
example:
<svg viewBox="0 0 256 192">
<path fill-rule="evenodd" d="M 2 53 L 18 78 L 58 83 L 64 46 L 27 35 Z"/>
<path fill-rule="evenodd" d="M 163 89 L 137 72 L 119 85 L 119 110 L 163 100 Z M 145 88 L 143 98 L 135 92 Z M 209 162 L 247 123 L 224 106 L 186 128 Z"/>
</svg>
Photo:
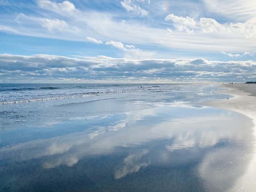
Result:
<svg viewBox="0 0 256 192">
<path fill-rule="evenodd" d="M 197 104 L 218 87 L 124 86 L 0 106 L 0 191 L 229 191 L 245 174 L 251 120 Z"/>
</svg>

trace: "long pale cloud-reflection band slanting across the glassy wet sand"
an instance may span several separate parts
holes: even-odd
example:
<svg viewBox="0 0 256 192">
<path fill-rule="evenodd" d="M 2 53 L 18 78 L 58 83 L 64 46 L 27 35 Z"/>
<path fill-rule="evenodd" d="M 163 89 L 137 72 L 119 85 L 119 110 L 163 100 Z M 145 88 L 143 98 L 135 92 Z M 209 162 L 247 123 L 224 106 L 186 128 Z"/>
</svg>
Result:
<svg viewBox="0 0 256 192">
<path fill-rule="evenodd" d="M 66 159 L 67 153 L 74 154 L 80 159 L 85 155 L 109 154 L 116 147 L 129 147 L 155 139 L 171 138 L 177 139 L 174 140 L 172 145 L 168 145 L 167 148 L 170 151 L 195 145 L 204 148 L 215 145 L 221 139 L 234 140 L 235 142 L 242 141 L 247 133 L 245 131 L 241 132 L 239 122 L 231 121 L 231 117 L 217 116 L 175 119 L 175 121 L 165 121 L 150 126 L 129 126 L 126 129 L 118 129 L 118 131 L 103 131 L 106 127 L 100 127 L 94 132 L 84 131 L 68 134 L 62 138 L 41 140 L 38 141 L 41 144 L 39 146 L 35 145 L 35 142 L 22 143 L 19 146 L 0 149 L 0 153 L 4 153 L 5 157 L 12 156 L 11 158 L 20 154 L 20 161 L 43 156 L 54 157 L 57 154 L 58 157 L 54 158 L 61 158 L 61 154 L 63 154 L 63 159 Z M 223 129 L 222 126 L 228 123 L 230 125 L 227 127 L 232 127 L 232 129 Z M 119 123 L 117 122 L 117 124 Z M 192 128 L 191 124 L 196 124 L 196 127 Z M 94 137 L 92 137 L 92 134 L 94 134 Z"/>
</svg>

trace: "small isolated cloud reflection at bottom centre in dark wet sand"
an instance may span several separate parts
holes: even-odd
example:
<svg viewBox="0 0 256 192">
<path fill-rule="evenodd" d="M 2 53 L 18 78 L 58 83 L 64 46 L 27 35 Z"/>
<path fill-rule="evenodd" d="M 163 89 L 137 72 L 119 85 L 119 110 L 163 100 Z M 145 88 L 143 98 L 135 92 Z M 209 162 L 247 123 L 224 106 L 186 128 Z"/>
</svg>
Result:
<svg viewBox="0 0 256 192">
<path fill-rule="evenodd" d="M 115 179 L 121 179 L 127 174 L 138 172 L 141 167 L 147 167 L 149 163 L 143 162 L 142 157 L 149 153 L 148 149 L 140 153 L 130 154 L 125 157 L 123 166 L 115 170 Z"/>
</svg>

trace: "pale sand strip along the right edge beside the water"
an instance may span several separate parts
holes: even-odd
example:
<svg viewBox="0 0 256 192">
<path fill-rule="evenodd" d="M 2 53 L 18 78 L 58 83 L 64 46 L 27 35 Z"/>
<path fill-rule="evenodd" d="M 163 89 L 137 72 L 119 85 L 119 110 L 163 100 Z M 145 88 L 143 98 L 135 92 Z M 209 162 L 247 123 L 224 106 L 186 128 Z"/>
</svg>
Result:
<svg viewBox="0 0 256 192">
<path fill-rule="evenodd" d="M 212 106 L 231 111 L 236 111 L 250 117 L 254 123 L 254 134 L 256 141 L 256 84 L 233 84 L 221 85 L 221 88 L 227 89 L 221 91 L 234 96 L 234 98 L 224 100 L 211 100 L 203 102 L 203 105 Z M 233 188 L 228 191 L 255 191 L 256 190 L 256 142 L 252 151 L 252 159 L 247 166 L 245 174 L 237 179 Z"/>
</svg>

